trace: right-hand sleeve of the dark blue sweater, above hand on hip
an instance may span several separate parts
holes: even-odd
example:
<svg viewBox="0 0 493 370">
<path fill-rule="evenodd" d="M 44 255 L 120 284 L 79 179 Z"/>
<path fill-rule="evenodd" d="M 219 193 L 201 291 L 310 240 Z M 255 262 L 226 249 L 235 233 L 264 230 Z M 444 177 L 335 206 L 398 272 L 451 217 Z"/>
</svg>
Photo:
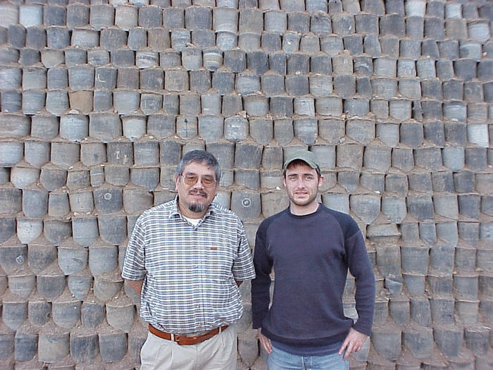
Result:
<svg viewBox="0 0 493 370">
<path fill-rule="evenodd" d="M 356 279 L 356 311 L 358 321 L 354 323 L 354 330 L 370 335 L 375 307 L 375 276 L 366 252 L 363 235 L 356 223 L 356 233 L 346 239 L 347 261 L 351 275 Z M 354 230 L 354 228 L 351 228 Z"/>
</svg>

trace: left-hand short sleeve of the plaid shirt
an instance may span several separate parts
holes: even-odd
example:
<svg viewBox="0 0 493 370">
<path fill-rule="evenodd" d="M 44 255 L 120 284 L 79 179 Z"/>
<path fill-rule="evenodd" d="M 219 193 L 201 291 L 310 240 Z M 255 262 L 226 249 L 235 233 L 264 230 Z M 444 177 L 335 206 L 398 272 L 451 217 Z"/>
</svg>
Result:
<svg viewBox="0 0 493 370">
<path fill-rule="evenodd" d="M 137 219 L 132 236 L 127 245 L 123 261 L 122 278 L 127 280 L 142 280 L 146 276 L 144 264 L 146 235 L 142 226 L 142 216 Z"/>
</svg>

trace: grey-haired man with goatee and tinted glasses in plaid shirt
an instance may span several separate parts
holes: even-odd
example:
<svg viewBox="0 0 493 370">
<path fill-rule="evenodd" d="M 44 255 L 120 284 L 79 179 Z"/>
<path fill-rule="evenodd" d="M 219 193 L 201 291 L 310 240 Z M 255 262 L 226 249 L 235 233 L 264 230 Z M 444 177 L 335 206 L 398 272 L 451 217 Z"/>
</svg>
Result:
<svg viewBox="0 0 493 370">
<path fill-rule="evenodd" d="M 235 369 L 238 286 L 255 273 L 241 221 L 213 203 L 219 179 L 212 154 L 188 152 L 177 166 L 177 197 L 135 223 L 122 276 L 149 323 L 142 370 Z"/>
</svg>

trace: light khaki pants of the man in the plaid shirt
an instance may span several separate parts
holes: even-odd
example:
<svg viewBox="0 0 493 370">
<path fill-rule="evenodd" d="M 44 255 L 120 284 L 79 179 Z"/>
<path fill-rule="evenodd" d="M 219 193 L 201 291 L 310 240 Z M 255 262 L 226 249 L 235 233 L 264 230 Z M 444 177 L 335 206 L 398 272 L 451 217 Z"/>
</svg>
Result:
<svg viewBox="0 0 493 370">
<path fill-rule="evenodd" d="M 140 370 L 235 370 L 234 325 L 196 345 L 178 345 L 148 333 L 140 350 Z"/>
</svg>

